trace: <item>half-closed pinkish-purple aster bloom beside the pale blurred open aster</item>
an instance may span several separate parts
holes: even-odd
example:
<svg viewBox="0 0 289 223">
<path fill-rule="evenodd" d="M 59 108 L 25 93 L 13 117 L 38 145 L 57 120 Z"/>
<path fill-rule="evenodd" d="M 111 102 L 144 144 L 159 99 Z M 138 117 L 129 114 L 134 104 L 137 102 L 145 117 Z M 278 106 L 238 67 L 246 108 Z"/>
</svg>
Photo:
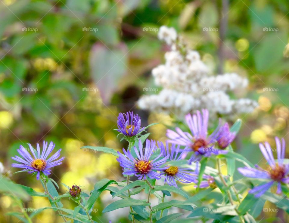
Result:
<svg viewBox="0 0 289 223">
<path fill-rule="evenodd" d="M 219 130 L 216 133 L 216 141 L 220 149 L 227 148 L 227 146 L 234 141 L 235 137 L 236 133 L 230 132 L 229 124 L 227 122 L 223 126 L 219 127 Z"/>
</svg>

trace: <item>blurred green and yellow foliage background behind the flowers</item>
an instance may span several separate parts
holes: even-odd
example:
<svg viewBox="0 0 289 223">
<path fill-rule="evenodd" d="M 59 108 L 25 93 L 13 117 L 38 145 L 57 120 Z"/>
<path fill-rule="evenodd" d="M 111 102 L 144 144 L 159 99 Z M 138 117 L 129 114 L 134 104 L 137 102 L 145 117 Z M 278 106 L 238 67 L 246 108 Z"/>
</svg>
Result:
<svg viewBox="0 0 289 223">
<path fill-rule="evenodd" d="M 273 136 L 278 135 L 289 143 L 288 12 L 286 0 L 0 0 L 0 161 L 5 175 L 43 191 L 35 177 L 13 175 L 17 170 L 11 169 L 11 156 L 20 144 L 52 140 L 66 157 L 51 174 L 56 182 L 83 185 L 89 192 L 99 179 L 122 180 L 115 157 L 79 148 L 125 147 L 113 129 L 118 113 L 128 110 L 137 112 L 143 125 L 160 123 L 150 128 L 151 138 L 165 140 L 175 117 L 135 105 L 148 93 L 144 87 L 155 87 L 151 69 L 163 63 L 168 50 L 157 38 L 162 25 L 174 27 L 215 72 L 247 76 L 247 97 L 260 106 L 236 117 L 243 126 L 234 148 L 253 163 L 260 160 L 258 142 L 275 145 Z M 224 16 L 226 32 L 220 29 Z M 218 31 L 206 32 L 205 27 Z M 65 191 L 61 186 L 60 193 Z M 101 214 L 109 202 L 104 193 L 95 204 L 96 221 L 126 222 L 122 211 Z M 33 197 L 23 205 L 50 204 Z M 64 206 L 75 205 L 67 200 Z M 18 222 L 6 215 L 17 208 L 13 196 L 0 195 L 0 222 Z M 288 217 L 281 211 L 261 215 L 272 221 Z M 51 210 L 33 220 L 60 221 Z"/>
</svg>

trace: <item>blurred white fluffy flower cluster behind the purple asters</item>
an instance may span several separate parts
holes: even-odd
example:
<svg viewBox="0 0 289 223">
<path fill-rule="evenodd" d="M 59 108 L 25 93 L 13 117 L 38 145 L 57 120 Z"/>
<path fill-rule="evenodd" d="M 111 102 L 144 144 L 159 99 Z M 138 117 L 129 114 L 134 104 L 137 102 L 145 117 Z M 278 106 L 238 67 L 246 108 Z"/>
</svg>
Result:
<svg viewBox="0 0 289 223">
<path fill-rule="evenodd" d="M 172 49 L 166 52 L 165 63 L 152 70 L 155 83 L 163 90 L 142 96 L 138 101 L 140 108 L 174 113 L 182 118 L 201 108 L 209 109 L 213 116 L 232 116 L 252 112 L 258 106 L 250 99 L 230 99 L 228 91 L 246 88 L 248 80 L 235 73 L 210 75 L 197 51 L 184 50 L 175 29 L 162 26 L 158 37 Z"/>
</svg>

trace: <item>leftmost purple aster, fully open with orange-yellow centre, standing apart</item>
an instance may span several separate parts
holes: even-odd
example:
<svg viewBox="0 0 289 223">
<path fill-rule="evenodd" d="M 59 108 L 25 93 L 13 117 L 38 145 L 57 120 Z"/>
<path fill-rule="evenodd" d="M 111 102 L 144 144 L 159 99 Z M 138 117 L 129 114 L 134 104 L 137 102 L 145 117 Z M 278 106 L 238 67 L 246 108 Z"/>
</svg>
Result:
<svg viewBox="0 0 289 223">
<path fill-rule="evenodd" d="M 22 145 L 20 145 L 20 148 L 17 149 L 17 151 L 22 156 L 22 158 L 19 156 L 11 157 L 13 160 L 16 160 L 20 163 L 12 163 L 11 166 L 23 168 L 23 170 L 27 170 L 28 173 L 37 172 L 36 175 L 37 180 L 39 179 L 40 172 L 44 173 L 46 176 L 49 175 L 51 173 L 50 168 L 60 165 L 64 157 L 61 157 L 59 160 L 56 160 L 60 156 L 61 151 L 60 149 L 56 153 L 54 153 L 50 158 L 48 158 L 48 155 L 54 149 L 55 144 L 53 142 L 50 142 L 48 148 L 47 144 L 48 142 L 43 141 L 43 150 L 40 155 L 39 144 L 37 143 L 37 151 L 35 151 L 32 145 L 28 143 L 33 157 Z"/>
</svg>

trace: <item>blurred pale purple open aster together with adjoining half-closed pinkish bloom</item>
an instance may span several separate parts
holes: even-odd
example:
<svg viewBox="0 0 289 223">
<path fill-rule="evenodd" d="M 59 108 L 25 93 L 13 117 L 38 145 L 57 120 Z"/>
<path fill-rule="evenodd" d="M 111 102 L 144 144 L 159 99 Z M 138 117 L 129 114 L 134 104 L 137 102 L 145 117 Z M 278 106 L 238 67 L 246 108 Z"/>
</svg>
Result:
<svg viewBox="0 0 289 223">
<path fill-rule="evenodd" d="M 236 134 L 231 133 L 228 123 L 223 126 L 221 122 L 216 130 L 208 135 L 209 111 L 207 109 L 197 111 L 197 114 L 188 114 L 185 116 L 186 123 L 191 133 L 183 132 L 176 128 L 176 132 L 167 130 L 166 136 L 169 142 L 183 145 L 193 152 L 190 162 L 199 161 L 203 156 L 209 157 L 212 154 L 225 154 L 228 151 L 223 150 L 235 139 Z M 219 147 L 219 149 L 216 147 Z"/>
</svg>

